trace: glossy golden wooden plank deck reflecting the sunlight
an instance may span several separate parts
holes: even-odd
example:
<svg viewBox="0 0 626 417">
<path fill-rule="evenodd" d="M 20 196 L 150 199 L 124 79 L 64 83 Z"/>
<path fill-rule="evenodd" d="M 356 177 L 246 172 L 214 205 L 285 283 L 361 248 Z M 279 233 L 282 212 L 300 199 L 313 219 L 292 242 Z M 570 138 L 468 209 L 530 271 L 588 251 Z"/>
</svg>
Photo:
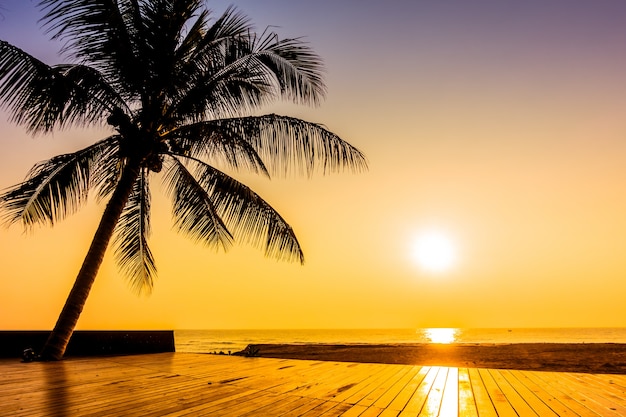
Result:
<svg viewBox="0 0 626 417">
<path fill-rule="evenodd" d="M 192 353 L 0 360 L 2 416 L 626 416 L 626 375 Z"/>
</svg>

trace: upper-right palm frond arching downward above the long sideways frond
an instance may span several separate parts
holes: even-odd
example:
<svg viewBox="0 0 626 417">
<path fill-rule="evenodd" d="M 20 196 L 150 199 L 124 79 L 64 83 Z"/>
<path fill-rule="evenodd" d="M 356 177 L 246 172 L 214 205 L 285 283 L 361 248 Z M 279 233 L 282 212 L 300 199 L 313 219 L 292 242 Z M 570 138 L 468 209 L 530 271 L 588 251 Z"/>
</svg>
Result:
<svg viewBox="0 0 626 417">
<path fill-rule="evenodd" d="M 300 38 L 248 32 L 197 49 L 186 86 L 173 96 L 171 114 L 198 120 L 242 115 L 283 98 L 318 104 L 326 93 L 320 57 Z"/>
</svg>

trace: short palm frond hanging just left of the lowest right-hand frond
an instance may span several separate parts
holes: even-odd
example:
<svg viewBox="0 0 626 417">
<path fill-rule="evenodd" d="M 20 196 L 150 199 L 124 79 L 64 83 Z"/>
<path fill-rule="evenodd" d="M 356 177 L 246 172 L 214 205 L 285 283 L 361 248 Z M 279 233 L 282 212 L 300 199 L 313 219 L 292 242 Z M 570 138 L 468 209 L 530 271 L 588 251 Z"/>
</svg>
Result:
<svg viewBox="0 0 626 417">
<path fill-rule="evenodd" d="M 206 190 L 178 159 L 166 159 L 164 167 L 165 188 L 172 198 L 178 230 L 206 246 L 228 249 L 232 235 Z"/>
</svg>

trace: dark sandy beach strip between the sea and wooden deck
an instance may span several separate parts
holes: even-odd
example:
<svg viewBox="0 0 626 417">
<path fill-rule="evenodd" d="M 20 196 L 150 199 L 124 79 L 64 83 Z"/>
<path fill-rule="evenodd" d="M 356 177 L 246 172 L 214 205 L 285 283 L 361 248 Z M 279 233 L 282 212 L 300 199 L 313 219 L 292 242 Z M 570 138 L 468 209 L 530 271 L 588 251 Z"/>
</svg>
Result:
<svg viewBox="0 0 626 417">
<path fill-rule="evenodd" d="M 258 356 L 339 362 L 626 374 L 626 344 L 259 344 Z"/>
</svg>

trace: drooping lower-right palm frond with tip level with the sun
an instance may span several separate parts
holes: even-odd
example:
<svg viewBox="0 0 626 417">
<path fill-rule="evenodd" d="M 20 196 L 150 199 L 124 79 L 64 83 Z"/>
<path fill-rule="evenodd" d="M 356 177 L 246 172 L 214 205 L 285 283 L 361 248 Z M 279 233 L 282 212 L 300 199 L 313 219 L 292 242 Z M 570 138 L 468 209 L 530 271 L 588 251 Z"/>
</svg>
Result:
<svg viewBox="0 0 626 417">
<path fill-rule="evenodd" d="M 236 239 L 263 248 L 268 257 L 304 263 L 293 229 L 258 194 L 202 161 L 188 164 Z"/>
</svg>

